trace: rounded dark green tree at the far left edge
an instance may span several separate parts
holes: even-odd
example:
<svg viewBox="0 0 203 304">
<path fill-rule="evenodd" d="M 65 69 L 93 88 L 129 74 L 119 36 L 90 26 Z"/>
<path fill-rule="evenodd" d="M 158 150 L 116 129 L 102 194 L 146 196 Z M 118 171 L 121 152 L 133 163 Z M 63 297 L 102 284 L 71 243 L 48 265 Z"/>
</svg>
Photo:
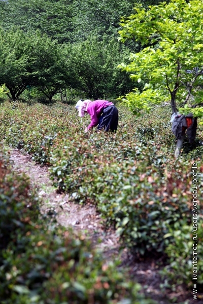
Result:
<svg viewBox="0 0 203 304">
<path fill-rule="evenodd" d="M 64 87 L 67 78 L 65 60 L 56 41 L 40 33 L 24 34 L 21 30 L 1 31 L 0 84 L 6 84 L 13 100 L 27 86 Z M 64 79 L 65 78 L 65 79 Z M 57 88 L 57 89 L 56 89 Z"/>
</svg>

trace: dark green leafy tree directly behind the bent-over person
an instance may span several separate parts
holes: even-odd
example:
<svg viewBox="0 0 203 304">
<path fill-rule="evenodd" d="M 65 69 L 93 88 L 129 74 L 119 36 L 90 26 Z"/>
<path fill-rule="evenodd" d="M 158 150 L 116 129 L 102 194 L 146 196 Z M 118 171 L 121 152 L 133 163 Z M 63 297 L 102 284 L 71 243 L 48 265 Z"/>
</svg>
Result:
<svg viewBox="0 0 203 304">
<path fill-rule="evenodd" d="M 129 76 L 117 69 L 118 63 L 128 57 L 129 51 L 114 40 L 99 42 L 92 38 L 72 45 L 69 65 L 76 75 L 72 86 L 94 99 L 129 92 L 132 89 Z"/>
</svg>

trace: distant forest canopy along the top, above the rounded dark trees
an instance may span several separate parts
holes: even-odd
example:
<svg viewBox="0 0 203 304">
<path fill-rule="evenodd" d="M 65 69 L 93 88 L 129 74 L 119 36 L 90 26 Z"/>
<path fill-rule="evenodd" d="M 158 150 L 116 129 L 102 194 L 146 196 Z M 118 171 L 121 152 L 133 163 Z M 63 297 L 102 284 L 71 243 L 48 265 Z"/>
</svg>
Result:
<svg viewBox="0 0 203 304">
<path fill-rule="evenodd" d="M 158 0 L 143 0 L 144 6 Z M 134 0 L 9 0 L 0 1 L 0 25 L 23 31 L 40 30 L 59 43 L 84 41 L 90 35 L 117 37 L 120 16 L 133 12 Z M 134 45 L 131 44 L 134 48 Z"/>
</svg>

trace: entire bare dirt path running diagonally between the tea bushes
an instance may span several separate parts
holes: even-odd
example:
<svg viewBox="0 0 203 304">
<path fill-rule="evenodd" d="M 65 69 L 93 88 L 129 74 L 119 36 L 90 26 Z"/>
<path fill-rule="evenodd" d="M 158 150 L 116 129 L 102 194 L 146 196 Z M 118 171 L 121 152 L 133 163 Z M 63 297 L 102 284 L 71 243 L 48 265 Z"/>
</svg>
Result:
<svg viewBox="0 0 203 304">
<path fill-rule="evenodd" d="M 160 304 L 184 303 L 192 304 L 191 295 L 189 295 L 180 286 L 176 292 L 162 291 L 160 284 L 163 283 L 159 275 L 161 268 L 161 259 L 148 257 L 136 260 L 127 249 L 120 250 L 119 238 L 113 227 L 106 229 L 105 222 L 96 211 L 94 205 L 79 205 L 69 200 L 69 195 L 58 194 L 57 189 L 53 187 L 53 182 L 49 178 L 49 172 L 46 167 L 34 163 L 27 154 L 22 154 L 18 149 L 11 151 L 11 160 L 13 168 L 19 174 L 25 173 L 29 176 L 32 188 L 37 189 L 38 196 L 42 199 L 42 212 L 52 210 L 56 213 L 57 222 L 65 227 L 72 227 L 74 233 L 85 234 L 94 247 L 101 250 L 106 259 L 114 259 L 120 256 L 121 267 L 129 268 L 129 272 L 135 281 L 142 286 L 142 292 L 153 298 Z M 171 298 L 176 297 L 176 301 Z M 187 301 L 186 301 L 187 300 Z M 202 300 L 196 300 L 197 304 L 203 304 Z"/>
</svg>

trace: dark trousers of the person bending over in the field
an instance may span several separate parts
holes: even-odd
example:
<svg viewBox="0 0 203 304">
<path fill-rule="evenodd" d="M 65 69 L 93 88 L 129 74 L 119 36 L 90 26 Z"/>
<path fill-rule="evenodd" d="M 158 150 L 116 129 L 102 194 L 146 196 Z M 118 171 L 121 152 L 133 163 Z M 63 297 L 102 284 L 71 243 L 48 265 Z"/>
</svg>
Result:
<svg viewBox="0 0 203 304">
<path fill-rule="evenodd" d="M 106 132 L 116 132 L 118 128 L 118 109 L 113 105 L 109 105 L 103 110 L 103 115 L 99 119 L 97 129 L 105 129 Z"/>
</svg>

